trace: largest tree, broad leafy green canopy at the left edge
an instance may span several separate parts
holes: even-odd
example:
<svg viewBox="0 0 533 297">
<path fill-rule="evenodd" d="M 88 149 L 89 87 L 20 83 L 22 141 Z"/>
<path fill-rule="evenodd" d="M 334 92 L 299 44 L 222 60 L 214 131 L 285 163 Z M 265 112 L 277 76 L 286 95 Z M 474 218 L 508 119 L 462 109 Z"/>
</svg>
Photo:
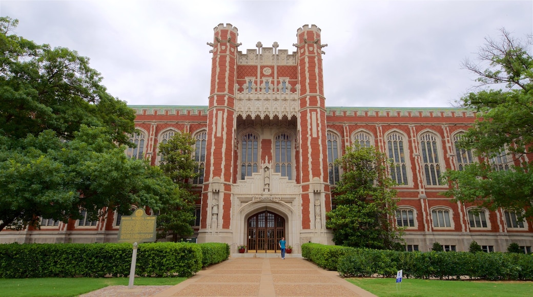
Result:
<svg viewBox="0 0 533 297">
<path fill-rule="evenodd" d="M 135 114 L 88 59 L 10 35 L 17 24 L 0 18 L 0 230 L 179 201 L 163 171 L 124 154 Z"/>
</svg>

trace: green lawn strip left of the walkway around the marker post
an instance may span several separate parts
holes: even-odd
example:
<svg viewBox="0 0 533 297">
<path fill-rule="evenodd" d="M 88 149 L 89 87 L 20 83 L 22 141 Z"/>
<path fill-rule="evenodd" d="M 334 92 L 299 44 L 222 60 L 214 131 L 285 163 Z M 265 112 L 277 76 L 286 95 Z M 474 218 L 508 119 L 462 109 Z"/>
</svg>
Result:
<svg viewBox="0 0 533 297">
<path fill-rule="evenodd" d="M 185 277 L 136 277 L 136 286 L 176 285 Z M 0 278 L 0 296 L 45 297 L 77 296 L 107 286 L 127 286 L 130 278 Z"/>
</svg>

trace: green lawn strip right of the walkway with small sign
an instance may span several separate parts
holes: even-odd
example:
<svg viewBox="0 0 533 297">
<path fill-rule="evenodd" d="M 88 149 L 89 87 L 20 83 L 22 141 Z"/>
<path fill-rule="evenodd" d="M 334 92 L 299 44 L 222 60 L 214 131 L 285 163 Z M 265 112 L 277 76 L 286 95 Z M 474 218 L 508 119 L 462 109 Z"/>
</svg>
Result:
<svg viewBox="0 0 533 297">
<path fill-rule="evenodd" d="M 532 296 L 533 282 L 438 281 L 403 278 L 347 278 L 379 297 L 386 296 Z"/>
</svg>

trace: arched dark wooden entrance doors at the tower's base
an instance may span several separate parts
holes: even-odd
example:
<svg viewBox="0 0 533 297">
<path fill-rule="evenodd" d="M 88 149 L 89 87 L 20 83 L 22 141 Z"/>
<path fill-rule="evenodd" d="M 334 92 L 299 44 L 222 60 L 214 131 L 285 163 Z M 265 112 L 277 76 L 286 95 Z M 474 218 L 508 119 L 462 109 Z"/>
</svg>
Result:
<svg viewBox="0 0 533 297">
<path fill-rule="evenodd" d="M 261 211 L 248 218 L 248 252 L 275 253 L 285 237 L 285 218 L 271 211 Z"/>
</svg>

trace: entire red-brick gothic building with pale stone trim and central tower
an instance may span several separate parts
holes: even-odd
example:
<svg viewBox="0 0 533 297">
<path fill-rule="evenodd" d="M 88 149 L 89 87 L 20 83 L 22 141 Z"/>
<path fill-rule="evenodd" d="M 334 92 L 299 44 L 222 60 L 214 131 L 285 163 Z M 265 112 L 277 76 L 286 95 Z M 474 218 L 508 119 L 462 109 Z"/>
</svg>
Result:
<svg viewBox="0 0 533 297">
<path fill-rule="evenodd" d="M 512 242 L 531 251 L 531 222 L 502 209 L 472 212 L 472 205 L 439 195 L 447 189 L 439 182 L 443 171 L 477 161 L 455 146 L 474 113 L 326 106 L 322 48 L 327 45 L 320 34 L 317 26 L 305 25 L 297 30 L 295 52 L 278 50 L 276 42 L 241 52 L 237 28 L 219 24 L 208 43 L 213 55 L 207 106 L 131 106 L 139 129 L 132 136 L 138 149 L 126 152 L 132 158 L 156 165 L 159 143 L 180 131 L 196 138 L 195 158 L 204 171 L 192 182 L 201 193 L 198 242 L 226 242 L 233 249 L 245 244 L 248 252 L 274 252 L 282 236 L 297 252 L 306 242 L 334 244 L 326 212 L 342 172 L 333 161 L 359 143 L 393 160 L 391 177 L 400 184 L 394 222 L 406 227 L 406 249 L 429 251 L 439 242 L 446 250 L 466 251 L 475 240 L 486 251 L 505 251 Z M 502 168 L 507 161 L 512 159 L 494 160 Z M 45 226 L 26 230 L 25 238 L 116 240 L 113 213 L 95 224 L 61 223 L 46 235 Z"/>
</svg>

